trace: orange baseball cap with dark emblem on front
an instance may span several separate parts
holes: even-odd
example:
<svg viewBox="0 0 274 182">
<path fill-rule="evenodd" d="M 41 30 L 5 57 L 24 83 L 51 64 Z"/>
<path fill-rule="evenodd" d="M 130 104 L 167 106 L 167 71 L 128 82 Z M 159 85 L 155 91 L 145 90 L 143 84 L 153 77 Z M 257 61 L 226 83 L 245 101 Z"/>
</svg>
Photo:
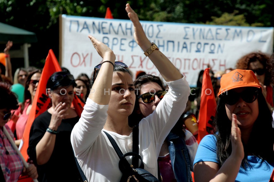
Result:
<svg viewBox="0 0 274 182">
<path fill-rule="evenodd" d="M 221 87 L 218 93 L 222 93 L 231 90 L 233 88 L 240 87 L 256 87 L 262 90 L 262 87 L 252 70 L 235 69 L 227 74 L 223 74 L 221 77 Z"/>
</svg>

